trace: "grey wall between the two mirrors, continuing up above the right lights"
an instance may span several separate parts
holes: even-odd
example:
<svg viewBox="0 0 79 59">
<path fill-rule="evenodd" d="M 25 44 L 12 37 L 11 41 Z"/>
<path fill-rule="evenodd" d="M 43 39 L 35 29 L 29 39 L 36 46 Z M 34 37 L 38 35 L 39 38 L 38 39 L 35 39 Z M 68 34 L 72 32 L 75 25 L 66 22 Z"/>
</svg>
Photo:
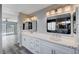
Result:
<svg viewBox="0 0 79 59">
<path fill-rule="evenodd" d="M 51 5 L 45 9 L 39 10 L 35 13 L 32 13 L 31 15 L 35 15 L 38 17 L 37 19 L 37 31 L 38 32 L 47 32 L 47 26 L 46 26 L 46 22 L 47 22 L 47 16 L 46 16 L 46 12 L 51 10 L 51 9 L 55 9 L 58 7 L 62 7 L 64 5 Z"/>
</svg>

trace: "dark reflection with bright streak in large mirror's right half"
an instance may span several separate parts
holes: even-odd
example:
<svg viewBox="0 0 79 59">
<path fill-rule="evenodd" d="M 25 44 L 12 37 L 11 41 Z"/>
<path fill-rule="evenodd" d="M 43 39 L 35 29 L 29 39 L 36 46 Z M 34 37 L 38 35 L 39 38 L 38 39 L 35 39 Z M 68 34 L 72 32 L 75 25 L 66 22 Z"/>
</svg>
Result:
<svg viewBox="0 0 79 59">
<path fill-rule="evenodd" d="M 71 23 L 70 18 L 58 18 L 57 19 L 57 32 L 58 33 L 64 33 L 64 34 L 70 34 L 71 30 Z"/>
</svg>

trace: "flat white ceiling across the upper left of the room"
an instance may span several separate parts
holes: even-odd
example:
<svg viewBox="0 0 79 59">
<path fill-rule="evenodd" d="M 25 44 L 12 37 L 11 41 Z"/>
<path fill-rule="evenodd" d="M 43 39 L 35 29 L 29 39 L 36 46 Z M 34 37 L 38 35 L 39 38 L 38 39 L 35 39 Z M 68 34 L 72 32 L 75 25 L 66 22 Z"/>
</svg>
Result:
<svg viewBox="0 0 79 59">
<path fill-rule="evenodd" d="M 7 8 L 14 12 L 31 14 L 50 5 L 51 4 L 3 4 L 3 9 L 6 10 Z"/>
</svg>

